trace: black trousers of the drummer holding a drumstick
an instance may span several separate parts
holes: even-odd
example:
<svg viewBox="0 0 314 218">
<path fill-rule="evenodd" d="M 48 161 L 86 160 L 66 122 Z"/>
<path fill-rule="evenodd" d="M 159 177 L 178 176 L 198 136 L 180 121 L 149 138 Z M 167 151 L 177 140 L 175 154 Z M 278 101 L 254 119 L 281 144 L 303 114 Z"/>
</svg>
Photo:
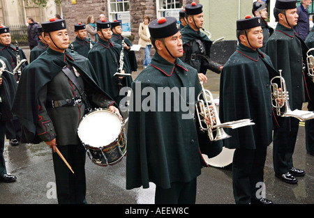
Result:
<svg viewBox="0 0 314 218">
<path fill-rule="evenodd" d="M 58 148 L 74 171 L 73 174 L 57 153 L 52 153 L 58 203 L 86 203 L 86 152 L 84 146 L 80 144 L 58 146 Z"/>
</svg>

